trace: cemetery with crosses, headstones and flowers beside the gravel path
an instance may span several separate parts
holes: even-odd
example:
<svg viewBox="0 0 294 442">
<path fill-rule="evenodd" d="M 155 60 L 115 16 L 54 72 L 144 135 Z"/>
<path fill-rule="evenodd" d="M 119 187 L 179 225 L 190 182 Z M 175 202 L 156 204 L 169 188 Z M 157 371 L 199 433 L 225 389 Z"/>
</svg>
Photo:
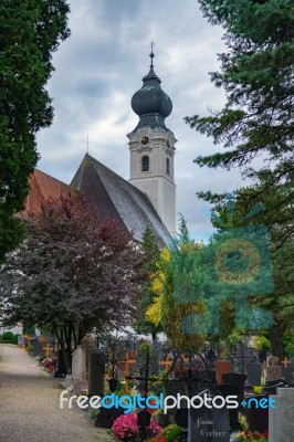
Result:
<svg viewBox="0 0 294 442">
<path fill-rule="evenodd" d="M 98 346 L 85 339 L 65 372 L 54 340 L 25 335 L 19 346 L 61 378 L 65 404 L 73 396 L 73 403 L 83 399 L 81 413 L 86 410 L 93 425 L 111 430 L 117 441 L 292 441 L 294 358 L 262 360 L 264 354 L 245 343 L 212 348 L 207 341 L 195 352 L 135 334 L 109 335 Z M 107 406 L 91 407 L 97 396 Z M 171 397 L 179 396 L 175 407 Z M 198 407 L 190 402 L 196 397 L 216 407 Z M 237 407 L 221 407 L 229 397 Z"/>
</svg>

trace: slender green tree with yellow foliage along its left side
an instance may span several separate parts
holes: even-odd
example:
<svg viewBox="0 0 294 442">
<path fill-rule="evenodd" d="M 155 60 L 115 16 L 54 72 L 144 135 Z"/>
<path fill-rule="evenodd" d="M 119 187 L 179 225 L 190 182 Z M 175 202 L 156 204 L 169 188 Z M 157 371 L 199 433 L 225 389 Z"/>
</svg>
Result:
<svg viewBox="0 0 294 442">
<path fill-rule="evenodd" d="M 165 248 L 151 275 L 155 296 L 146 316 L 162 326 L 174 348 L 198 351 L 204 343 L 203 326 L 208 327 L 207 306 L 203 296 L 203 245 L 189 239 L 187 224 L 180 218 L 180 235 L 174 248 Z"/>
</svg>

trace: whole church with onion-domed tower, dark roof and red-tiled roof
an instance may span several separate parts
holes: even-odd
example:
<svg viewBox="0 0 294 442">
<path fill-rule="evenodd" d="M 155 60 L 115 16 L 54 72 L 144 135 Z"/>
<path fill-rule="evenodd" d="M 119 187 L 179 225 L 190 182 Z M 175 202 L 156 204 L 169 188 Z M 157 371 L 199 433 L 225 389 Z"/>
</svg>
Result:
<svg viewBox="0 0 294 442">
<path fill-rule="evenodd" d="M 176 231 L 175 145 L 177 139 L 165 119 L 171 114 L 172 103 L 161 90 L 160 78 L 150 70 L 143 77 L 143 86 L 132 97 L 132 108 L 139 120 L 127 135 L 129 145 L 129 180 L 125 180 L 98 160 L 85 155 L 70 185 L 40 170 L 30 177 L 30 193 L 24 211 L 40 210 L 42 201 L 61 194 L 81 192 L 93 204 L 99 219 L 115 217 L 123 229 L 138 242 L 149 225 L 158 245 L 169 243 Z"/>
</svg>

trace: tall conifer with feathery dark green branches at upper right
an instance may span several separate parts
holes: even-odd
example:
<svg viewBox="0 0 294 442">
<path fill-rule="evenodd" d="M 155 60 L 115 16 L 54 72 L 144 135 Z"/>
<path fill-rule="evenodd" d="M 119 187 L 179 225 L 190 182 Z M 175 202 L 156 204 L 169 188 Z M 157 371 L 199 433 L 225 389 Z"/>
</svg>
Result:
<svg viewBox="0 0 294 442">
<path fill-rule="evenodd" d="M 223 144 L 224 152 L 198 157 L 211 168 L 243 168 L 258 194 L 281 188 L 274 217 L 293 210 L 294 187 L 294 10 L 291 1 L 200 0 L 204 17 L 225 29 L 228 52 L 219 55 L 221 72 L 211 74 L 223 87 L 227 104 L 211 116 L 186 117 L 191 127 Z M 261 156 L 263 165 L 252 162 Z M 256 187 L 255 187 L 256 185 Z M 213 202 L 210 192 L 199 196 Z M 252 197 L 252 192 L 251 192 Z M 249 197 L 250 198 L 250 197 Z M 281 242 L 293 238 L 288 223 Z"/>
</svg>

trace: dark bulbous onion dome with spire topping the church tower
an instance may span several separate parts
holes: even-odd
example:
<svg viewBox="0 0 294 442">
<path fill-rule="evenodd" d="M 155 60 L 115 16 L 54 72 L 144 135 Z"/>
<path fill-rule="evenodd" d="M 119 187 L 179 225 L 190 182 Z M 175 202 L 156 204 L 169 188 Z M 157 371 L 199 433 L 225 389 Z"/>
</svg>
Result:
<svg viewBox="0 0 294 442">
<path fill-rule="evenodd" d="M 140 120 L 135 128 L 149 126 L 161 127 L 167 130 L 165 118 L 171 114 L 172 103 L 169 96 L 161 90 L 161 80 L 154 72 L 154 53 L 150 53 L 150 71 L 143 77 L 143 86 L 132 97 L 132 108 Z"/>
</svg>

